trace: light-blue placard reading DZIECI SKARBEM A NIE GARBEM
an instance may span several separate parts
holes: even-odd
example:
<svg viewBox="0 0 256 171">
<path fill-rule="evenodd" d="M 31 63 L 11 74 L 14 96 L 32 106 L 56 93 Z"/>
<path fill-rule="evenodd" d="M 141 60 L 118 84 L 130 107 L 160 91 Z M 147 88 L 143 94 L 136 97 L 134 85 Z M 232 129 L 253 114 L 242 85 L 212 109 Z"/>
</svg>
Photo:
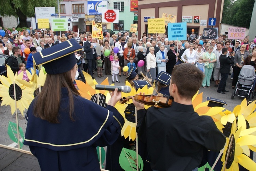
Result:
<svg viewBox="0 0 256 171">
<path fill-rule="evenodd" d="M 168 39 L 169 40 L 186 40 L 187 23 L 177 22 L 168 24 Z"/>
</svg>

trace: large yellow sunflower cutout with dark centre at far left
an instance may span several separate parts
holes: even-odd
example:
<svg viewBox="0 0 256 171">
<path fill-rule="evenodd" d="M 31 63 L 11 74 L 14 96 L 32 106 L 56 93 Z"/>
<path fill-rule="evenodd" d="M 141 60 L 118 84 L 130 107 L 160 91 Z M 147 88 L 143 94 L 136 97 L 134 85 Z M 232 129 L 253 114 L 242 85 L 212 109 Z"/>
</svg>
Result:
<svg viewBox="0 0 256 171">
<path fill-rule="evenodd" d="M 22 80 L 23 74 L 16 74 L 14 76 L 12 69 L 10 66 L 6 65 L 7 67 L 7 78 L 5 76 L 0 76 L 0 97 L 2 97 L 2 104 L 1 106 L 10 105 L 11 106 L 11 113 L 13 114 L 16 110 L 15 108 L 15 98 L 14 98 L 14 84 L 15 84 L 15 92 L 16 92 L 16 103 L 17 109 L 22 113 L 24 116 L 25 108 L 28 109 L 30 103 L 34 99 L 33 97 L 33 89 L 32 85 Z M 29 73 L 27 71 L 27 73 Z"/>
</svg>

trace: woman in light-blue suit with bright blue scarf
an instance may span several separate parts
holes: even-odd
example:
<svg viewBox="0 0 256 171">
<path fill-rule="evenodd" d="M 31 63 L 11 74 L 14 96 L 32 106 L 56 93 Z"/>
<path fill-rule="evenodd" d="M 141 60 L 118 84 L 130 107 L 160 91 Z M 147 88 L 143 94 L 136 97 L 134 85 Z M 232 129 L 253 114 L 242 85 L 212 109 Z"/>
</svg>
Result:
<svg viewBox="0 0 256 171">
<path fill-rule="evenodd" d="M 156 53 L 156 63 L 157 63 L 157 74 L 161 71 L 166 72 L 166 52 L 165 52 L 165 45 L 160 45 L 160 50 Z"/>
</svg>

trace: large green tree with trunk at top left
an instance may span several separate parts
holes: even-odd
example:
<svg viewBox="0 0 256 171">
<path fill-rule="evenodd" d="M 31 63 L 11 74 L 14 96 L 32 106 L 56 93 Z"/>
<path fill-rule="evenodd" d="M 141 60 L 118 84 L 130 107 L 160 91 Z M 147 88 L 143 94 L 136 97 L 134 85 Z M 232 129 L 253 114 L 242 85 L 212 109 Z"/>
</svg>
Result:
<svg viewBox="0 0 256 171">
<path fill-rule="evenodd" d="M 48 6 L 57 10 L 57 0 L 5 0 L 0 5 L 0 15 L 19 17 L 18 27 L 28 27 L 27 17 L 35 17 L 35 7 Z"/>
</svg>

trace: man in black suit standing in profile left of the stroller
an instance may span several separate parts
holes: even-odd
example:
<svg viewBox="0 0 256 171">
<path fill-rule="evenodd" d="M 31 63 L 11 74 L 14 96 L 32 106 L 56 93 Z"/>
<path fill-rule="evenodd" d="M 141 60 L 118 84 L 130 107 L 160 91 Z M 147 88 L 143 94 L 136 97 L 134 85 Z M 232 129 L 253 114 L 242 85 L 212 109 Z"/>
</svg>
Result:
<svg viewBox="0 0 256 171">
<path fill-rule="evenodd" d="M 221 73 L 221 81 L 219 82 L 219 87 L 217 92 L 222 94 L 226 94 L 226 92 L 228 92 L 227 90 L 225 90 L 225 88 L 226 88 L 228 73 L 230 70 L 230 64 L 232 63 L 231 58 L 229 56 L 226 56 L 227 53 L 228 53 L 228 48 L 226 47 L 222 48 L 222 55 L 219 56 L 219 63 L 221 64 L 219 68 L 219 72 Z"/>
</svg>

